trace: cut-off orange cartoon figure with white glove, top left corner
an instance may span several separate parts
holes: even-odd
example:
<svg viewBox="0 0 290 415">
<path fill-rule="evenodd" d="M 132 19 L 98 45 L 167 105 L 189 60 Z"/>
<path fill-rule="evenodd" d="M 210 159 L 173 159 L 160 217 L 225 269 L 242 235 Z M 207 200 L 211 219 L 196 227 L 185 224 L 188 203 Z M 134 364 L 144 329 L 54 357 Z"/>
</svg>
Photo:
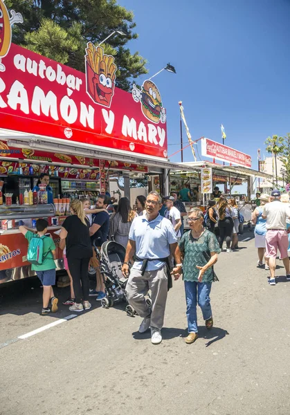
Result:
<svg viewBox="0 0 290 415">
<path fill-rule="evenodd" d="M 11 17 L 4 4 L 5 0 L 0 0 L 0 71 L 5 71 L 5 66 L 1 60 L 5 57 L 10 49 L 12 30 L 11 26 L 15 23 L 23 23 L 23 18 L 20 13 L 15 13 L 11 10 Z"/>
</svg>

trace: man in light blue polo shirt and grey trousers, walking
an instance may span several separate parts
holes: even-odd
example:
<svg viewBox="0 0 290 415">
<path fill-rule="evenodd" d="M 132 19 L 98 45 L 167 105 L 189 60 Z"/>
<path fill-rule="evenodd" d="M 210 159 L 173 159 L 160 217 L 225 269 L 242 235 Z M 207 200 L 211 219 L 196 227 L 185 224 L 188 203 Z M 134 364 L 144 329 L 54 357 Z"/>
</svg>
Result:
<svg viewBox="0 0 290 415">
<path fill-rule="evenodd" d="M 172 223 L 161 216 L 162 199 L 157 192 L 150 192 L 145 203 L 146 214 L 137 216 L 129 232 L 123 275 L 129 275 L 129 261 L 136 255 L 126 286 L 127 299 L 136 313 L 143 317 L 139 333 L 145 333 L 151 326 L 153 344 L 162 341 L 165 305 L 168 289 L 168 257 L 174 256 L 176 266 L 172 273 L 174 279 L 181 275 L 181 254 L 177 244 L 176 232 Z M 170 271 L 169 271 L 170 272 Z M 152 309 L 145 301 L 151 290 Z"/>
</svg>

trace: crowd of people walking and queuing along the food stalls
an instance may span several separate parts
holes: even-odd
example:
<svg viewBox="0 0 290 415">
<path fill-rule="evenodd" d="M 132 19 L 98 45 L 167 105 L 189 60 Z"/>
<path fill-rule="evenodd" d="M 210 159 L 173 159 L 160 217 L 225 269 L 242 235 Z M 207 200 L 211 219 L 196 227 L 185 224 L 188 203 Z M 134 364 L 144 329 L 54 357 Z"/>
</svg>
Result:
<svg viewBox="0 0 290 415">
<path fill-rule="evenodd" d="M 184 192 L 185 194 L 185 192 Z M 147 197 L 138 196 L 135 209 L 129 199 L 121 197 L 116 212 L 109 216 L 109 195 L 100 195 L 96 208 L 91 209 L 88 199 L 71 203 L 68 216 L 60 233 L 60 248 L 64 249 L 64 264 L 71 279 L 71 295 L 63 304 L 74 312 L 91 308 L 90 298 L 101 301 L 106 297 L 104 277 L 93 246 L 99 250 L 107 240 L 116 241 L 126 249 L 123 275 L 128 278 L 127 301 L 143 317 L 140 333 L 151 329 L 153 344 L 162 341 L 161 329 L 165 313 L 167 291 L 172 287 L 172 276 L 183 275 L 185 285 L 188 337 L 191 344 L 198 338 L 197 304 L 201 307 L 207 329 L 213 325 L 210 306 L 212 282 L 217 280 L 214 264 L 218 254 L 238 248 L 240 215 L 235 199 L 217 194 L 208 201 L 202 212 L 199 207 L 186 212 L 180 194 L 172 192 L 161 198 L 157 192 Z M 186 195 L 185 195 L 186 196 Z M 253 211 L 255 247 L 258 264 L 270 270 L 269 284 L 275 285 L 275 262 L 278 250 L 290 279 L 288 257 L 290 203 L 288 194 L 274 190 L 271 196 L 258 195 L 259 203 Z M 188 215 L 190 230 L 184 232 L 183 218 Z M 37 221 L 37 234 L 24 226 L 19 230 L 29 241 L 28 254 L 35 246 L 42 248 L 42 264 L 31 261 L 33 270 L 44 287 L 42 314 L 57 311 L 55 297 L 55 243 L 46 236 L 48 223 Z M 226 248 L 224 248 L 224 242 Z M 30 245 L 31 244 L 31 245 Z M 90 288 L 88 271 L 96 270 L 96 288 Z M 152 304 L 145 296 L 151 292 Z"/>
</svg>

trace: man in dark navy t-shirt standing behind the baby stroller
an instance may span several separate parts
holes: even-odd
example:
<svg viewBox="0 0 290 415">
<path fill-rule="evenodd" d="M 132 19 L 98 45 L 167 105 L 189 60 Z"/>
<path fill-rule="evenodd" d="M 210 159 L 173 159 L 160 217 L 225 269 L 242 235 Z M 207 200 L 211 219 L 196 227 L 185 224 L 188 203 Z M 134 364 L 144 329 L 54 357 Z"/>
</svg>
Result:
<svg viewBox="0 0 290 415">
<path fill-rule="evenodd" d="M 97 209 L 107 209 L 107 206 L 110 203 L 110 198 L 106 194 L 100 194 L 98 201 L 96 203 Z M 96 243 L 96 246 L 100 249 L 102 243 L 106 242 L 109 235 L 109 213 L 100 212 L 93 216 L 93 224 L 89 229 L 89 234 L 91 235 L 92 242 Z M 105 284 L 100 275 L 100 269 L 97 268 L 97 286 L 96 290 L 90 290 L 90 296 L 97 296 L 96 300 L 100 301 L 102 298 L 106 297 L 105 294 Z"/>
</svg>

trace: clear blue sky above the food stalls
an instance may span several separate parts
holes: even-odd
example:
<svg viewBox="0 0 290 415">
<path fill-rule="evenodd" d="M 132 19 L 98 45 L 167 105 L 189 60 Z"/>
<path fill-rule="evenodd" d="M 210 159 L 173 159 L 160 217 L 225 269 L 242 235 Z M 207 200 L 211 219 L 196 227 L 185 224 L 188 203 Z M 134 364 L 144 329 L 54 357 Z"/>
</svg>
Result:
<svg viewBox="0 0 290 415">
<path fill-rule="evenodd" d="M 290 132 L 290 0 L 118 3 L 135 15 L 139 38 L 129 48 L 149 61 L 149 75 L 137 82 L 167 62 L 176 68 L 154 78 L 167 109 L 168 154 L 179 149 L 182 100 L 192 139 L 221 141 L 223 123 L 226 145 L 250 154 L 257 169 L 266 138 Z M 193 160 L 190 149 L 184 160 Z"/>
</svg>

